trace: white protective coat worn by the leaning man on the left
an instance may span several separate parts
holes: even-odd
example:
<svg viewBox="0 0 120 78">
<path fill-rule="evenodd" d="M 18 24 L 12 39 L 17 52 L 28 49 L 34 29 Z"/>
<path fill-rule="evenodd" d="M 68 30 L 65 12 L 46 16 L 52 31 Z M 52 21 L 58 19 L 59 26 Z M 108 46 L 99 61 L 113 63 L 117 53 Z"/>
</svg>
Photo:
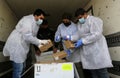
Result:
<svg viewBox="0 0 120 78">
<path fill-rule="evenodd" d="M 30 43 L 38 46 L 39 39 L 36 38 L 39 26 L 33 15 L 24 16 L 12 31 L 3 49 L 4 56 L 10 56 L 10 60 L 23 63 L 29 52 Z"/>
</svg>

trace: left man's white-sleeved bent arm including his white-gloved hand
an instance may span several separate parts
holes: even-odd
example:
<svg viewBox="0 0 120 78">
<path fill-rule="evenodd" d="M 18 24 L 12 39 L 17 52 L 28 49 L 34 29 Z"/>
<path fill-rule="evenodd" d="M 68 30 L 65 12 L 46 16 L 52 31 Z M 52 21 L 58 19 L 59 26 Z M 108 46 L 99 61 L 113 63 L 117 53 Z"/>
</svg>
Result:
<svg viewBox="0 0 120 78">
<path fill-rule="evenodd" d="M 44 44 L 48 42 L 47 40 L 44 40 L 44 41 L 40 40 L 33 35 L 33 32 L 32 32 L 33 25 L 31 20 L 23 19 L 23 21 L 20 24 L 22 26 L 20 33 L 22 34 L 22 38 L 26 42 L 35 44 L 36 46 L 39 46 L 42 43 Z"/>
</svg>

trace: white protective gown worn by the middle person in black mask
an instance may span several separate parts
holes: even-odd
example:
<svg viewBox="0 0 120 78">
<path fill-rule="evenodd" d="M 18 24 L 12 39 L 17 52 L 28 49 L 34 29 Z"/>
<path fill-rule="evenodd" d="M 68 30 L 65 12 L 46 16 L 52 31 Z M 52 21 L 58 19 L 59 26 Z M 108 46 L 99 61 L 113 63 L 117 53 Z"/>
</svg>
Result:
<svg viewBox="0 0 120 78">
<path fill-rule="evenodd" d="M 55 37 L 60 36 L 61 38 L 63 38 L 64 36 L 67 36 L 67 35 L 73 35 L 76 32 L 77 32 L 77 26 L 73 22 L 71 22 L 71 25 L 69 25 L 68 27 L 66 27 L 63 23 L 61 23 L 57 28 Z M 67 50 L 64 45 L 64 40 L 62 40 L 62 42 L 63 42 L 62 44 L 63 44 L 64 50 Z M 67 59 L 71 62 L 80 62 L 79 49 L 71 49 L 71 52 L 72 52 L 71 55 L 68 56 Z"/>
</svg>

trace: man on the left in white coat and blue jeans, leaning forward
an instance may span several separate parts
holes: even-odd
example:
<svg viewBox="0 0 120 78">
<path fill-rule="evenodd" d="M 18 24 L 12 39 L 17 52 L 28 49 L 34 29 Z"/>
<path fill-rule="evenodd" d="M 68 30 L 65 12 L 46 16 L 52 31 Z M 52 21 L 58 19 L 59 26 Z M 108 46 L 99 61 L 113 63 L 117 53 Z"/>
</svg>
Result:
<svg viewBox="0 0 120 78">
<path fill-rule="evenodd" d="M 10 56 L 13 65 L 13 78 L 21 78 L 23 63 L 27 58 L 30 44 L 41 47 L 41 44 L 48 43 L 48 40 L 36 38 L 44 16 L 45 13 L 41 9 L 36 9 L 34 14 L 24 16 L 8 37 L 3 49 L 3 55 Z"/>
</svg>

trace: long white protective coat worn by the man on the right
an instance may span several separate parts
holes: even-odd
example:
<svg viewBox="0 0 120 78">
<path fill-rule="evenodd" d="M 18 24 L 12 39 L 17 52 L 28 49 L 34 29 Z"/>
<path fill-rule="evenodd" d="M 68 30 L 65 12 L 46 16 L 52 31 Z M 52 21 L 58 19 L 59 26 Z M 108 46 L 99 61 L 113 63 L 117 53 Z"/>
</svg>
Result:
<svg viewBox="0 0 120 78">
<path fill-rule="evenodd" d="M 72 36 L 72 41 L 82 39 L 83 51 L 80 52 L 84 69 L 100 69 L 112 67 L 111 58 L 105 37 L 102 35 L 103 21 L 94 16 L 86 18 L 84 24 L 78 23 L 78 33 Z"/>
</svg>

